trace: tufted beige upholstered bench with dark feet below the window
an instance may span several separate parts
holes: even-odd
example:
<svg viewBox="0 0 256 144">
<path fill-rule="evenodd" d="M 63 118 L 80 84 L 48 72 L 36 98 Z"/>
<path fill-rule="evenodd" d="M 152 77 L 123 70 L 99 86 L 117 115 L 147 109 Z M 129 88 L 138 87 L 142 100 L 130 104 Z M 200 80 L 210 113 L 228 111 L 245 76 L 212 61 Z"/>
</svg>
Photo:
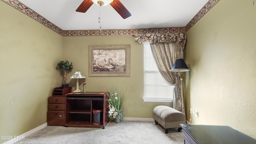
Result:
<svg viewBox="0 0 256 144">
<path fill-rule="evenodd" d="M 168 134 L 169 128 L 178 128 L 178 132 L 182 130 L 180 124 L 185 124 L 185 115 L 169 106 L 156 106 L 153 110 L 154 120 L 157 124 L 164 127 L 164 132 Z"/>
</svg>

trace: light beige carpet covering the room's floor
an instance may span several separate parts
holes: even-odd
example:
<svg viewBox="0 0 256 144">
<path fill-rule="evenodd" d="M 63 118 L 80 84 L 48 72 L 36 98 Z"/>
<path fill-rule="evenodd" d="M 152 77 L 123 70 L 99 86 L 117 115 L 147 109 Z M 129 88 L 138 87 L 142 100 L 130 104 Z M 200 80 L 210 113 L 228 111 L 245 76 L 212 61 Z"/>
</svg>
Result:
<svg viewBox="0 0 256 144">
<path fill-rule="evenodd" d="M 105 129 L 46 126 L 15 144 L 183 144 L 182 132 L 168 134 L 154 122 L 109 122 Z"/>
</svg>

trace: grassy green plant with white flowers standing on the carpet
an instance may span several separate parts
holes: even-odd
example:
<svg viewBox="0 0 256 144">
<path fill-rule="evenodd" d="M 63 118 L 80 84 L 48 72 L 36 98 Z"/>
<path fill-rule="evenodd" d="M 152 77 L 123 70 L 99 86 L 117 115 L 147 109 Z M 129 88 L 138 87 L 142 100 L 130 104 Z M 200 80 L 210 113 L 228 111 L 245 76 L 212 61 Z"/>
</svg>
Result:
<svg viewBox="0 0 256 144">
<path fill-rule="evenodd" d="M 124 92 L 118 90 L 115 86 L 108 89 L 108 117 L 118 123 L 124 119 Z"/>
</svg>

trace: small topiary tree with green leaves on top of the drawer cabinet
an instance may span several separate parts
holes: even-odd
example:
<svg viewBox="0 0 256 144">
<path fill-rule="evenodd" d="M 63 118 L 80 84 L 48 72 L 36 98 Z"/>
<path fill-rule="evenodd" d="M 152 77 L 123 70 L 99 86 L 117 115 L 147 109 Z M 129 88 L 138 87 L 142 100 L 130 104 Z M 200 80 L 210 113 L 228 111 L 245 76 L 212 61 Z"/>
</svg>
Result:
<svg viewBox="0 0 256 144">
<path fill-rule="evenodd" d="M 68 87 L 67 73 L 73 69 L 72 62 L 69 62 L 68 60 L 61 60 L 60 62 L 58 62 L 56 68 L 60 70 L 60 72 L 64 72 L 64 81 L 62 82 L 62 88 Z"/>
</svg>

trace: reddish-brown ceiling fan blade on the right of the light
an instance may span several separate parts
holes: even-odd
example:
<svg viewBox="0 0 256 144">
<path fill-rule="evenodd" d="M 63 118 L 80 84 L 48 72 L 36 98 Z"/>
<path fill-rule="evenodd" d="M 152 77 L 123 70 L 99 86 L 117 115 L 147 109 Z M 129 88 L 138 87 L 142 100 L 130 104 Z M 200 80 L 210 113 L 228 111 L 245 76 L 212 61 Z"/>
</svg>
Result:
<svg viewBox="0 0 256 144">
<path fill-rule="evenodd" d="M 124 5 L 119 0 L 114 0 L 110 3 L 110 5 L 122 16 L 122 18 L 126 19 L 130 17 L 132 14 L 124 7 Z"/>
</svg>

